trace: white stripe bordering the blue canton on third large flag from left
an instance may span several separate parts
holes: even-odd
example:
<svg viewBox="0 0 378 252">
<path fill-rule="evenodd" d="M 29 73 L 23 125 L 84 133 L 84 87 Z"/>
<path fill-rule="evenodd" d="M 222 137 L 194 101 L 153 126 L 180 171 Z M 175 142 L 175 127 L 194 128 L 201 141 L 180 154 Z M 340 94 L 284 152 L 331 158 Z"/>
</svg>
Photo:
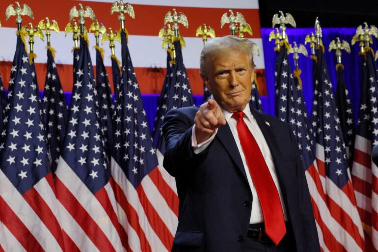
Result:
<svg viewBox="0 0 378 252">
<path fill-rule="evenodd" d="M 140 203 L 138 194 L 134 186 L 130 183 L 123 170 L 119 167 L 119 165 L 113 158 L 111 158 L 111 171 L 115 182 L 117 182 L 117 184 L 122 188 L 127 201 L 137 212 L 138 222 L 144 234 L 146 235 L 147 241 L 150 244 L 152 251 L 167 252 L 167 249 L 162 244 L 162 241 L 152 229 L 148 216 L 144 212 L 143 206 Z"/>
</svg>

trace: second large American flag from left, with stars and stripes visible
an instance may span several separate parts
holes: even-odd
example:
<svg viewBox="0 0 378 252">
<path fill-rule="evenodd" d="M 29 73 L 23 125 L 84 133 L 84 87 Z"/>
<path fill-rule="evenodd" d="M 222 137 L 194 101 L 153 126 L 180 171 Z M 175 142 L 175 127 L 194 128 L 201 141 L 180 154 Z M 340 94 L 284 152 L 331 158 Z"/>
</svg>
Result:
<svg viewBox="0 0 378 252">
<path fill-rule="evenodd" d="M 66 251 L 124 251 L 101 132 L 93 68 L 84 38 L 55 188 Z"/>
</svg>

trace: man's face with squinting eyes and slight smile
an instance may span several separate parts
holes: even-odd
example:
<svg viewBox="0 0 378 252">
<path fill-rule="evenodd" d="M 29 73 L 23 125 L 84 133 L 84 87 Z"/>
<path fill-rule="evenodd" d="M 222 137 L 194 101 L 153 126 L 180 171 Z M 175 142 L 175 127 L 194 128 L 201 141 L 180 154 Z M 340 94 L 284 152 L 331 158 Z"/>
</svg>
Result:
<svg viewBox="0 0 378 252">
<path fill-rule="evenodd" d="M 202 78 L 216 102 L 229 112 L 243 111 L 252 90 L 253 69 L 248 56 L 227 51 L 210 64 Z"/>
</svg>

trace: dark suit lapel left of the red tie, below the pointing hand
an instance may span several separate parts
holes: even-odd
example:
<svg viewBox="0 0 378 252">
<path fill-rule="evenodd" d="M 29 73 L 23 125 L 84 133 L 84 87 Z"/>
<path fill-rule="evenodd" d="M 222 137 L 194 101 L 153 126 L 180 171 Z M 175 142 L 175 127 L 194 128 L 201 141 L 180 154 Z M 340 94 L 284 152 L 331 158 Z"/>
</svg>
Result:
<svg viewBox="0 0 378 252">
<path fill-rule="evenodd" d="M 242 157 L 240 156 L 238 146 L 234 140 L 234 136 L 232 135 L 230 126 L 228 123 L 222 127 L 218 128 L 218 132 L 216 133 L 216 137 L 222 143 L 225 150 L 228 152 L 238 169 L 242 172 L 245 181 L 248 182 L 247 176 L 245 174 L 245 169 L 242 161 Z"/>
</svg>

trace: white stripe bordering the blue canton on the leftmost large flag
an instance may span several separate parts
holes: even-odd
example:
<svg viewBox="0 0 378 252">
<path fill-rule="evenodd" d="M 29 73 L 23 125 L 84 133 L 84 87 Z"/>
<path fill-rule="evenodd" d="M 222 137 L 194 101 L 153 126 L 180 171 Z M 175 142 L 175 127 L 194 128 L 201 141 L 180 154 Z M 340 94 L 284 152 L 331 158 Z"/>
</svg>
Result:
<svg viewBox="0 0 378 252">
<path fill-rule="evenodd" d="M 16 190 L 1 169 L 0 192 L 5 203 L 20 218 L 45 251 L 62 251 L 50 230 L 39 219 L 38 215 L 25 201 L 24 197 Z"/>
</svg>

